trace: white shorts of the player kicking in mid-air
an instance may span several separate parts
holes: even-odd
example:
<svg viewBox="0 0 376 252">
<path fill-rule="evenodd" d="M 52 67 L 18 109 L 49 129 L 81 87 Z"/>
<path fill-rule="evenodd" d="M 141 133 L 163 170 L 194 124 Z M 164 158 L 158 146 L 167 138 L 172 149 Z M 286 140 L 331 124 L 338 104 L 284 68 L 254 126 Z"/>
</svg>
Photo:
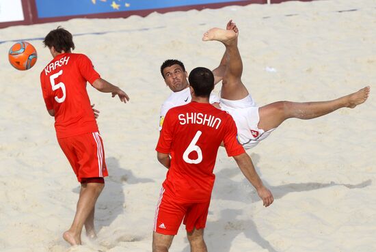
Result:
<svg viewBox="0 0 376 252">
<path fill-rule="evenodd" d="M 251 96 L 241 100 L 221 98 L 220 106 L 222 110 L 227 111 L 232 116 L 235 124 L 237 124 L 238 141 L 245 150 L 253 148 L 275 130 L 273 128 L 265 132 L 258 128 L 258 122 L 260 122 L 259 107 L 256 107 L 256 103 Z"/>
</svg>

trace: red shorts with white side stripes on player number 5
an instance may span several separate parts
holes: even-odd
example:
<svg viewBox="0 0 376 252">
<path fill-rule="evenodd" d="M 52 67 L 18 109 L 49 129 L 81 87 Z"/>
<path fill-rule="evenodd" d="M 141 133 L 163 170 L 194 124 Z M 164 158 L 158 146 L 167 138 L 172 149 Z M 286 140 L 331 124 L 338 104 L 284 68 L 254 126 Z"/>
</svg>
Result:
<svg viewBox="0 0 376 252">
<path fill-rule="evenodd" d="M 108 176 L 103 141 L 98 132 L 57 139 L 77 180 Z"/>
</svg>

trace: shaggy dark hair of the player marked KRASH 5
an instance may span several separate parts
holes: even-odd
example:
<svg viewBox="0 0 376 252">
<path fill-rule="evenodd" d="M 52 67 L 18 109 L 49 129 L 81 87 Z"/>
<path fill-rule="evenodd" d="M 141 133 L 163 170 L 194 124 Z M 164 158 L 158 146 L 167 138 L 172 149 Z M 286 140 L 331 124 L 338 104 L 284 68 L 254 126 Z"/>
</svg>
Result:
<svg viewBox="0 0 376 252">
<path fill-rule="evenodd" d="M 62 53 L 62 51 L 68 53 L 70 49 L 75 49 L 72 34 L 61 26 L 50 31 L 44 38 L 43 44 L 49 48 L 53 46 L 57 53 Z"/>
</svg>

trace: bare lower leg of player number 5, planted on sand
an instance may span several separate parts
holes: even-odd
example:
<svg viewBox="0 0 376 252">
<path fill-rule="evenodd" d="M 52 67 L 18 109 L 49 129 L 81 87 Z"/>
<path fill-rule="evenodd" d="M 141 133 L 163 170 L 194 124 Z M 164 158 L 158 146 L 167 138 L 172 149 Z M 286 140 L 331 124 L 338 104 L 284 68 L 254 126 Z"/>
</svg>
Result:
<svg viewBox="0 0 376 252">
<path fill-rule="evenodd" d="M 80 245 L 81 244 L 81 232 L 83 224 L 90 216 L 90 213 L 93 211 L 96 199 L 103 190 L 105 184 L 100 183 L 88 183 L 81 184 L 81 192 L 79 196 L 79 201 L 77 202 L 77 210 L 75 219 L 73 220 L 72 226 L 63 234 L 64 240 L 69 242 L 71 245 Z M 94 212 L 93 219 L 94 219 Z M 94 224 L 93 224 L 94 226 Z"/>
</svg>

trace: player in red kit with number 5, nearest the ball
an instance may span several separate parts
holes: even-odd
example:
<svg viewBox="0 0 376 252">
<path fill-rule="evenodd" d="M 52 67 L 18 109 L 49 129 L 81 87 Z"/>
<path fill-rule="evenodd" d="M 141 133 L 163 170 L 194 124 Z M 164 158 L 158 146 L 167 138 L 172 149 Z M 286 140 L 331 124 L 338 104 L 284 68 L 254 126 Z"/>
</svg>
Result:
<svg viewBox="0 0 376 252">
<path fill-rule="evenodd" d="M 89 82 L 100 92 L 119 96 L 122 102 L 128 95 L 119 87 L 100 78 L 92 61 L 75 49 L 72 34 L 57 27 L 44 38 L 53 60 L 40 73 L 40 83 L 47 111 L 55 117 L 57 141 L 69 160 L 77 180 L 81 183 L 77 211 L 72 226 L 64 232 L 64 240 L 71 245 L 81 244 L 81 232 L 96 237 L 94 210 L 96 199 L 108 176 L 103 141 L 98 132 L 96 115 L 86 91 Z"/>
</svg>

